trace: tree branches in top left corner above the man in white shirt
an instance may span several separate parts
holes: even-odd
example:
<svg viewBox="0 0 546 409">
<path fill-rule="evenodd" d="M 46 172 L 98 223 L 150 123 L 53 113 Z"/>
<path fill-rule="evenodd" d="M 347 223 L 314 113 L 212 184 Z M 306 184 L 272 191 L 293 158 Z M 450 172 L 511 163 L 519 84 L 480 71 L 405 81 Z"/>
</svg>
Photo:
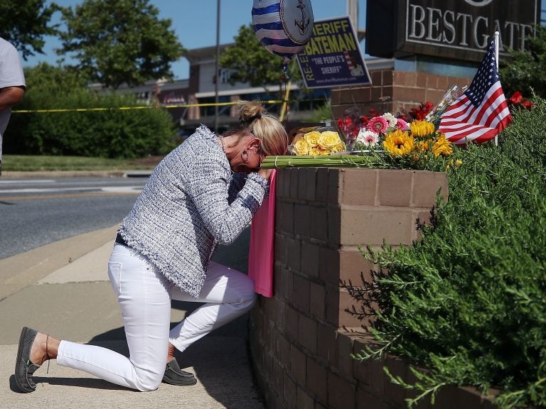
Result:
<svg viewBox="0 0 546 409">
<path fill-rule="evenodd" d="M 51 15 L 58 6 L 45 6 L 45 0 L 1 0 L 0 37 L 8 40 L 23 54 L 23 59 L 43 53 L 43 36 L 57 33 L 55 26 L 48 26 Z"/>
</svg>

